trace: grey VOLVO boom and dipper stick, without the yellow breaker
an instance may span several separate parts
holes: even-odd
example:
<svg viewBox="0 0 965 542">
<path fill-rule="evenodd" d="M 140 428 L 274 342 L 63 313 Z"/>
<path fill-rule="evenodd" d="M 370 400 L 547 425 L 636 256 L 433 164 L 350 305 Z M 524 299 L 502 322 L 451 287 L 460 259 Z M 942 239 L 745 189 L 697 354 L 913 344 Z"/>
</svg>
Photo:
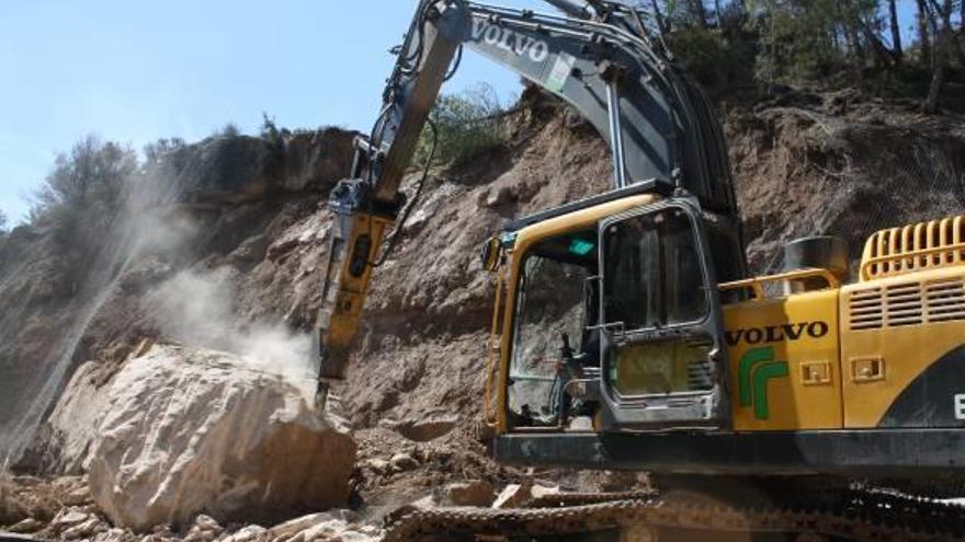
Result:
<svg viewBox="0 0 965 542">
<path fill-rule="evenodd" d="M 617 187 L 657 180 L 685 188 L 705 208 L 735 210 L 726 149 L 708 103 L 646 30 L 627 30 L 625 15 L 560 18 L 461 0 L 423 0 L 417 13 L 372 145 L 359 149 L 376 198 L 391 203 L 397 196 L 450 64 L 465 45 L 586 117 L 620 159 Z"/>
</svg>

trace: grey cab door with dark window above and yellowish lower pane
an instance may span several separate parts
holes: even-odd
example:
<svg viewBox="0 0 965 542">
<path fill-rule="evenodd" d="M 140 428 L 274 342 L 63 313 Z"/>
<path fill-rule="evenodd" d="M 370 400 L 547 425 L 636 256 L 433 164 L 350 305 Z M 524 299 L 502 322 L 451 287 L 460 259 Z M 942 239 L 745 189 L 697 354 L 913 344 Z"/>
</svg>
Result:
<svg viewBox="0 0 965 542">
<path fill-rule="evenodd" d="M 599 246 L 601 429 L 729 427 L 720 303 L 695 205 L 610 217 Z"/>
</svg>

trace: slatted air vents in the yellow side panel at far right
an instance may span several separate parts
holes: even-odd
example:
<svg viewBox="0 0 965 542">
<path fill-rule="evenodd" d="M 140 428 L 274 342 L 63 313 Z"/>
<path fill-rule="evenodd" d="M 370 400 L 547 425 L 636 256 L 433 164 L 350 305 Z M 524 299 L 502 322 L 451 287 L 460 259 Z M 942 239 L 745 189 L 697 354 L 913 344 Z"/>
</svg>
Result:
<svg viewBox="0 0 965 542">
<path fill-rule="evenodd" d="M 965 279 L 854 290 L 848 312 L 854 331 L 965 320 Z"/>
</svg>

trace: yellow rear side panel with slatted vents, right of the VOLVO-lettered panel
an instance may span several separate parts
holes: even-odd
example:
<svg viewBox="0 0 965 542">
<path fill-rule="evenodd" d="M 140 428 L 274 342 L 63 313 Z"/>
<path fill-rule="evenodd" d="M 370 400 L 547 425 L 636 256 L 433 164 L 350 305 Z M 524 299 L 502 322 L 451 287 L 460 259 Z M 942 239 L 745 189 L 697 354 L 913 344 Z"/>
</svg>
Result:
<svg viewBox="0 0 965 542">
<path fill-rule="evenodd" d="M 930 237 L 939 233 L 929 224 Z M 944 231 L 941 235 L 945 235 Z M 942 242 L 945 240 L 953 239 L 942 237 Z M 962 286 L 958 286 L 960 281 Z M 965 313 L 951 313 L 947 298 L 942 301 L 940 310 L 929 305 L 930 291 L 934 291 L 935 287 L 942 287 L 943 292 L 949 291 L 947 288 L 961 287 L 965 290 L 965 269 L 961 266 L 936 268 L 859 282 L 841 289 L 845 427 L 877 427 L 898 395 L 919 374 L 965 342 Z M 852 330 L 849 302 L 852 296 L 879 299 L 881 316 L 872 319 L 871 325 Z M 864 311 L 871 310 L 867 303 L 865 301 Z M 909 313 L 915 315 L 909 316 Z M 879 360 L 877 366 L 875 360 Z"/>
</svg>

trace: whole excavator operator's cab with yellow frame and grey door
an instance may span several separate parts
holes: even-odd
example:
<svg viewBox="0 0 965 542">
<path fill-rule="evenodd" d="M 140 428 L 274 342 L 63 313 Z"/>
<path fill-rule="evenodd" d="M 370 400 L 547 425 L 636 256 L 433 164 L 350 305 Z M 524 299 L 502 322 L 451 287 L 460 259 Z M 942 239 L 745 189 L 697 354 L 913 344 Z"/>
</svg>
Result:
<svg viewBox="0 0 965 542">
<path fill-rule="evenodd" d="M 543 215 L 501 237 L 497 426 L 725 425 L 722 316 L 695 205 L 638 194 Z"/>
</svg>

